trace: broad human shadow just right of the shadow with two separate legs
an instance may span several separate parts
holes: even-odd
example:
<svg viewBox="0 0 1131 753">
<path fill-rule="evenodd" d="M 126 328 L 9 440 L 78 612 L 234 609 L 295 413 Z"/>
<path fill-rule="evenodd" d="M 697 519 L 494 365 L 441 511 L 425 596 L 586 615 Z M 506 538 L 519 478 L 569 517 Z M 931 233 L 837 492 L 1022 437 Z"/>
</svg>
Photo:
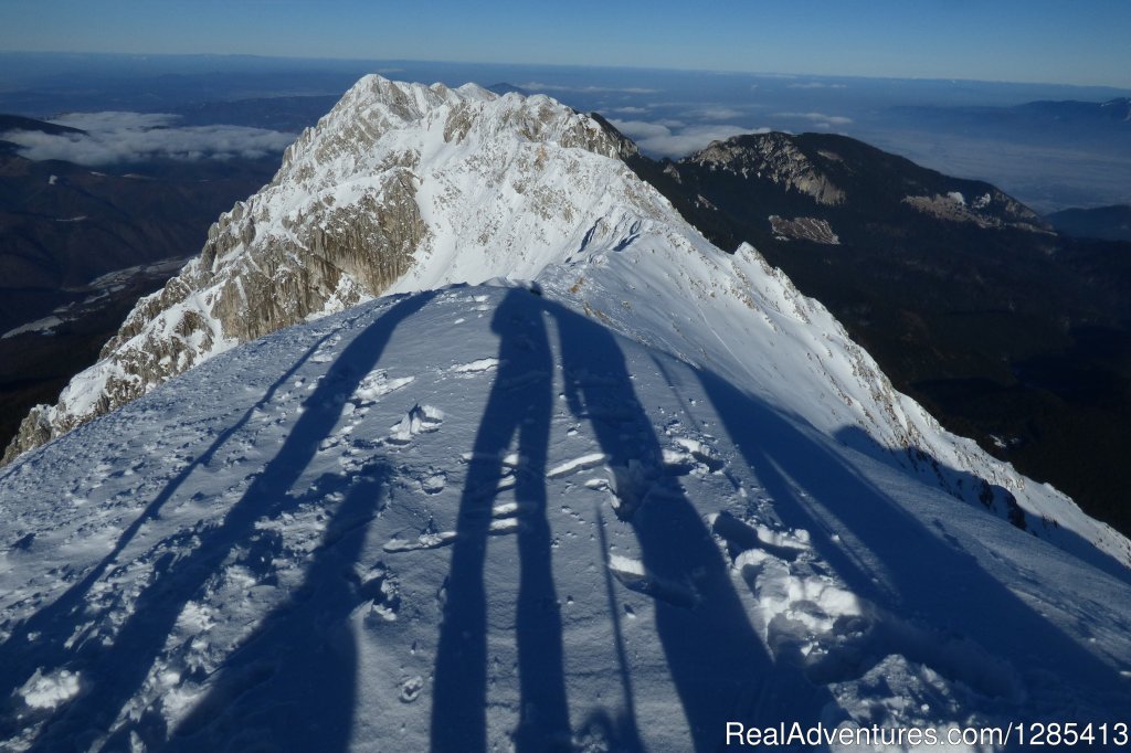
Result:
<svg viewBox="0 0 1131 753">
<path fill-rule="evenodd" d="M 613 332 L 562 305 L 546 309 L 561 338 L 567 399 L 593 425 L 614 475 L 618 517 L 639 544 L 649 581 L 641 590 L 657 596 L 656 634 L 696 750 L 723 747 L 728 721 L 821 720 L 831 696 L 766 651 L 702 516 L 662 478 L 659 439 Z"/>
</svg>

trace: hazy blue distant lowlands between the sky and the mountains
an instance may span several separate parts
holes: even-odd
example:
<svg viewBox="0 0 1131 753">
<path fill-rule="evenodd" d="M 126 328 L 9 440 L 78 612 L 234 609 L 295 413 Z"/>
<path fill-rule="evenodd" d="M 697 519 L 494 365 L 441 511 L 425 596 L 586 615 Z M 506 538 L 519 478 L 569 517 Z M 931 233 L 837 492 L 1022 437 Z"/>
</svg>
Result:
<svg viewBox="0 0 1131 753">
<path fill-rule="evenodd" d="M 15 139 L 26 156 L 81 164 L 259 154 L 287 140 L 262 129 L 295 132 L 313 124 L 362 75 L 377 72 L 448 86 L 506 83 L 547 94 L 605 115 L 656 157 L 677 158 L 741 133 L 840 133 L 947 174 L 990 181 L 1041 211 L 1131 204 L 1131 129 L 1124 123 L 1094 120 L 1079 123 L 1080 130 L 1016 110 L 1038 101 L 1099 103 L 1131 95 L 1112 87 L 215 53 L 0 55 L 0 112 L 57 120 L 119 113 L 80 119 L 94 123 L 85 140 Z"/>
</svg>

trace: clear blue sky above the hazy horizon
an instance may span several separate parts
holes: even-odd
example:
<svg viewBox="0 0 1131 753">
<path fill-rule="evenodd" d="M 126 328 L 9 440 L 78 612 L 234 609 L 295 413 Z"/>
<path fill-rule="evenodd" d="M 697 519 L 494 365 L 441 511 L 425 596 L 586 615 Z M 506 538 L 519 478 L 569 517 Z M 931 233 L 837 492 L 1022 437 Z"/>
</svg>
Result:
<svg viewBox="0 0 1131 753">
<path fill-rule="evenodd" d="M 3 0 L 0 50 L 1131 87 L 1128 0 Z"/>
</svg>

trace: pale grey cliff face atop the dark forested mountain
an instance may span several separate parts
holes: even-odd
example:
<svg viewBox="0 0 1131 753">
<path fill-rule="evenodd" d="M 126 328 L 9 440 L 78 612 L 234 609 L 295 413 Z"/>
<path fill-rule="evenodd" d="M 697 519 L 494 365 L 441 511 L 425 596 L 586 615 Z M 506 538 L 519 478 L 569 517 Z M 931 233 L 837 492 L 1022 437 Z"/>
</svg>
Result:
<svg viewBox="0 0 1131 753">
<path fill-rule="evenodd" d="M 710 170 L 725 170 L 743 178 L 768 179 L 788 190 L 835 206 L 845 192 L 822 173 L 785 133 L 740 137 L 716 141 L 687 158 Z"/>
</svg>

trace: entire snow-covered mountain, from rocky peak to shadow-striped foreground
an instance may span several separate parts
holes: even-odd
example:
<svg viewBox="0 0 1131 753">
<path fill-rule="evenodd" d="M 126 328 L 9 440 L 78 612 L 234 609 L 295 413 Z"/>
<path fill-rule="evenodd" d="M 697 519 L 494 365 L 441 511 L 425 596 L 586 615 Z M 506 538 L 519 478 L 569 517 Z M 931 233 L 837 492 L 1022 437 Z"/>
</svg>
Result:
<svg viewBox="0 0 1131 753">
<path fill-rule="evenodd" d="M 378 77 L 301 137 L 54 415 L 114 405 L 98 374 L 148 395 L 0 470 L 0 739 L 1120 721 L 1128 540 L 620 148 L 545 97 Z M 539 294 L 444 287 L 503 276 Z M 379 288 L 425 292 L 330 313 Z"/>
</svg>

